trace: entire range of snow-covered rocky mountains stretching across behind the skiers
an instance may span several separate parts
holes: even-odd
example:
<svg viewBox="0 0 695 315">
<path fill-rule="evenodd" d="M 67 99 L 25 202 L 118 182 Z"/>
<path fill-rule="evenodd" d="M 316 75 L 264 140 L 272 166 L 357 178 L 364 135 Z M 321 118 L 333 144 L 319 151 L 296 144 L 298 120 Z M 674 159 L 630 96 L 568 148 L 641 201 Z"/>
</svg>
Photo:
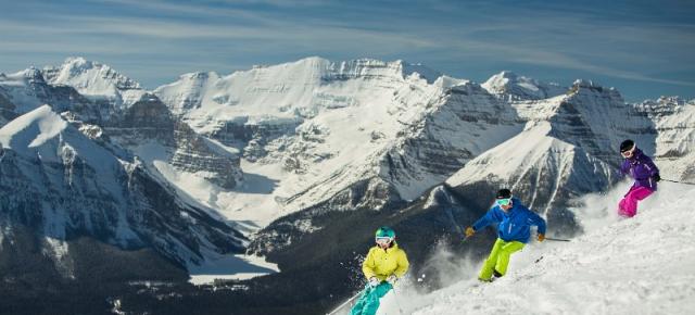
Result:
<svg viewBox="0 0 695 315">
<path fill-rule="evenodd" d="M 174 268 L 245 251 L 281 269 L 249 286 L 281 287 L 356 264 L 390 224 L 417 268 L 455 234 L 450 217 L 469 224 L 502 186 L 551 230 L 580 232 L 569 209 L 620 180 L 626 138 L 664 178 L 695 180 L 694 114 L 695 100 L 629 104 L 592 81 L 510 72 L 480 85 L 403 61 L 307 58 L 147 91 L 71 58 L 0 74 L 0 253 L 33 231 L 70 278 L 80 238 L 149 249 Z M 331 281 L 355 276 L 321 272 L 293 303 L 323 310 L 332 300 L 318 288 L 344 294 Z"/>
</svg>

